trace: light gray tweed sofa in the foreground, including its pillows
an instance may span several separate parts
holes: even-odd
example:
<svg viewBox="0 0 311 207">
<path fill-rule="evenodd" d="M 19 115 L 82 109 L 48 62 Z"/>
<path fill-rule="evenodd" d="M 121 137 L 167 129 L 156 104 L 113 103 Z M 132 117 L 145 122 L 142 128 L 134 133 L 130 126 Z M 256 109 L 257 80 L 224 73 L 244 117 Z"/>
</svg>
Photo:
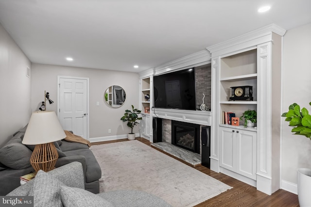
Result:
<svg viewBox="0 0 311 207">
<path fill-rule="evenodd" d="M 34 179 L 7 195 L 34 196 L 34 207 L 171 207 L 142 191 L 85 191 L 84 176 L 81 163 L 72 162 L 48 173 L 39 171 Z"/>
</svg>

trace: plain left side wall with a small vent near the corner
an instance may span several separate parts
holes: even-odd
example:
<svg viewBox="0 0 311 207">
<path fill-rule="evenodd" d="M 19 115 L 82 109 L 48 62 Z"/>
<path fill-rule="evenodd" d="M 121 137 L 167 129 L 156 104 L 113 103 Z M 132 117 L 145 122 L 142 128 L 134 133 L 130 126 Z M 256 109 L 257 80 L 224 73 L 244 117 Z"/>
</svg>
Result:
<svg viewBox="0 0 311 207">
<path fill-rule="evenodd" d="M 31 114 L 31 80 L 26 77 L 31 63 L 0 25 L 0 147 Z"/>
</svg>

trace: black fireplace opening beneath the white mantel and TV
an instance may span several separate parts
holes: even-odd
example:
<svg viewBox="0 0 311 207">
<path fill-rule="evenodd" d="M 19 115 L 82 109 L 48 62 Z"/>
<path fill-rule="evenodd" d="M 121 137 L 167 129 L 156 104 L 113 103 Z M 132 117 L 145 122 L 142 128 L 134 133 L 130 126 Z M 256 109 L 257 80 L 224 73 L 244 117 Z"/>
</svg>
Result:
<svg viewBox="0 0 311 207">
<path fill-rule="evenodd" d="M 172 144 L 200 154 L 200 125 L 172 120 Z"/>
</svg>

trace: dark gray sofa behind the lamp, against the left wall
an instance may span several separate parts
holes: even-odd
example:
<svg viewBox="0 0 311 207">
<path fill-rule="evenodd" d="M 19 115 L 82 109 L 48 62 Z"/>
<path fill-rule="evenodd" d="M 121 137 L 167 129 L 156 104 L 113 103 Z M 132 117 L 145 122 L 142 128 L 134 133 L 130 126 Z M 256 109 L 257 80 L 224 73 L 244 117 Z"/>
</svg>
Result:
<svg viewBox="0 0 311 207">
<path fill-rule="evenodd" d="M 17 131 L 13 138 L 0 149 L 0 195 L 6 195 L 20 186 L 20 176 L 34 172 L 30 164 L 30 157 L 35 145 L 21 143 L 26 127 Z M 85 189 L 93 193 L 99 193 L 99 179 L 102 176 L 102 171 L 88 146 L 65 140 L 54 144 L 59 155 L 55 167 L 73 161 L 81 162 L 85 176 Z"/>
</svg>

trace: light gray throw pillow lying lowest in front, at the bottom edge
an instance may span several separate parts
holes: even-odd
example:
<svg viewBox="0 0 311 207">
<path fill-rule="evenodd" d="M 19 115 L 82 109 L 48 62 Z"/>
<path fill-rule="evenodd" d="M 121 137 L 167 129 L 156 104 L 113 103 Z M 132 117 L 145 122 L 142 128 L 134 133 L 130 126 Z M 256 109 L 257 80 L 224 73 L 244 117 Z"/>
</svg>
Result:
<svg viewBox="0 0 311 207">
<path fill-rule="evenodd" d="M 61 186 L 61 198 L 65 207 L 113 207 L 104 198 L 80 188 Z"/>
</svg>

